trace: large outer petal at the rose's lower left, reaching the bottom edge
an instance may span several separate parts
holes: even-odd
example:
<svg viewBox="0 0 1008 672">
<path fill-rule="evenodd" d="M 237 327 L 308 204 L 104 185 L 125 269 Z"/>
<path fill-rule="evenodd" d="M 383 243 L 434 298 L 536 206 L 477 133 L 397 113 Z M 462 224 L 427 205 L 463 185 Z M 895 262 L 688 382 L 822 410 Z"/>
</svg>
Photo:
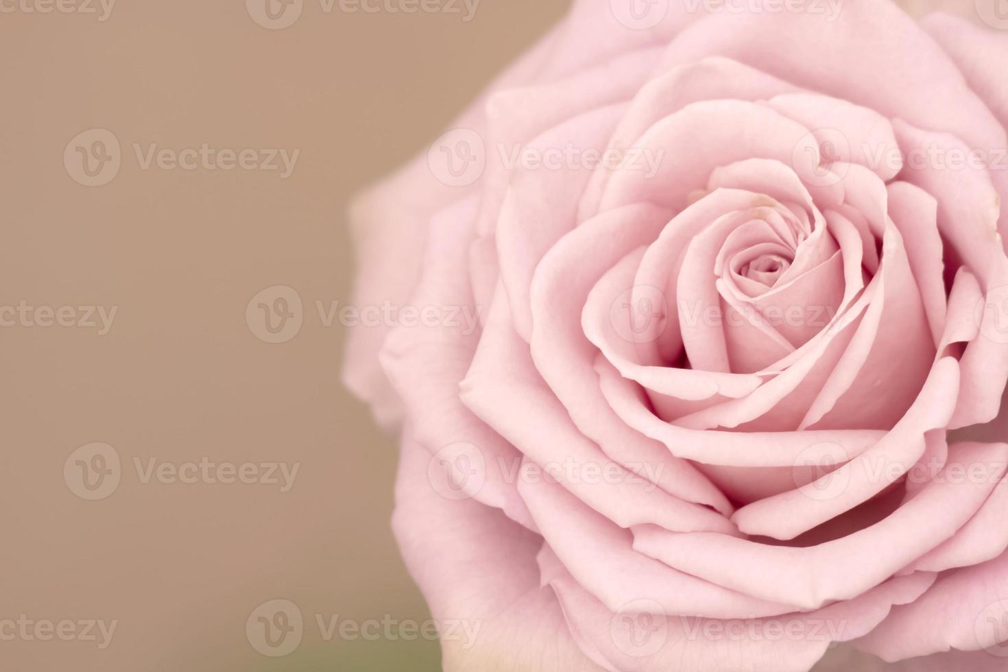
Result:
<svg viewBox="0 0 1008 672">
<path fill-rule="evenodd" d="M 403 439 L 392 527 L 433 618 L 475 634 L 443 635 L 444 669 L 601 672 L 578 649 L 556 598 L 539 587 L 541 538 L 478 502 L 439 497 L 428 461 Z"/>
</svg>

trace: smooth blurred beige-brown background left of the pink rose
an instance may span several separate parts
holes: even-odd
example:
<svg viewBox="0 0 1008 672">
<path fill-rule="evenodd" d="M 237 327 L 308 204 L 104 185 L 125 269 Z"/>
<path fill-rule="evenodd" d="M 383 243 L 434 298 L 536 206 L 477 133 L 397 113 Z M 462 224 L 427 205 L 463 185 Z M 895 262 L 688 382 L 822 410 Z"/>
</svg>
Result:
<svg viewBox="0 0 1008 672">
<path fill-rule="evenodd" d="M 0 621 L 118 627 L 106 650 L 0 641 L 0 669 L 437 669 L 433 643 L 324 642 L 313 625 L 427 618 L 387 526 L 394 443 L 341 389 L 343 333 L 316 302 L 350 298 L 349 194 L 422 149 L 566 0 L 482 0 L 469 22 L 304 0 L 282 30 L 257 25 L 244 0 L 119 0 L 106 21 L 24 11 L 46 1 L 0 13 L 0 308 L 118 312 L 105 335 L 0 327 Z M 62 156 L 93 128 L 115 134 L 122 166 L 86 187 Z M 281 179 L 142 169 L 134 143 L 300 154 Z M 300 331 L 277 345 L 245 315 L 272 285 L 304 302 Z M 64 464 L 95 441 L 115 447 L 123 476 L 85 501 Z M 300 472 L 285 494 L 144 484 L 134 457 Z M 245 622 L 273 598 L 308 624 L 271 659 Z"/>
</svg>

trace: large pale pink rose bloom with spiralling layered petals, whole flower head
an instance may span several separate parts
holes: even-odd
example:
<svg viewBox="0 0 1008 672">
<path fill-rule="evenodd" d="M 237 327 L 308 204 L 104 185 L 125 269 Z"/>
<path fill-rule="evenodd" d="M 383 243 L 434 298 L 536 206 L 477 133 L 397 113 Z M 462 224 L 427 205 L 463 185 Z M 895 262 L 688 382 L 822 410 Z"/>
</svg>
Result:
<svg viewBox="0 0 1008 672">
<path fill-rule="evenodd" d="M 445 669 L 1008 666 L 982 14 L 579 0 L 356 201 L 355 304 L 401 310 L 345 378 L 400 428 L 409 570 L 478 633 Z"/>
</svg>

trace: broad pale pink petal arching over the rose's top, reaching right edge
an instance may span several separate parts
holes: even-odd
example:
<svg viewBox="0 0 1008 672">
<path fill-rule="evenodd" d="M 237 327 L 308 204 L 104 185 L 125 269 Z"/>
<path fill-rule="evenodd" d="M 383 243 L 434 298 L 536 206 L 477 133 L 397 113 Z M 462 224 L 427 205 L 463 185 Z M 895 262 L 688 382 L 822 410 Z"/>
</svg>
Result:
<svg viewBox="0 0 1008 672">
<path fill-rule="evenodd" d="M 836 20 L 828 20 L 831 9 L 825 6 L 701 13 L 670 42 L 664 63 L 722 55 L 890 119 L 956 133 L 976 147 L 1004 146 L 1004 130 L 956 63 L 894 3 L 846 0 L 832 7 Z"/>
</svg>

